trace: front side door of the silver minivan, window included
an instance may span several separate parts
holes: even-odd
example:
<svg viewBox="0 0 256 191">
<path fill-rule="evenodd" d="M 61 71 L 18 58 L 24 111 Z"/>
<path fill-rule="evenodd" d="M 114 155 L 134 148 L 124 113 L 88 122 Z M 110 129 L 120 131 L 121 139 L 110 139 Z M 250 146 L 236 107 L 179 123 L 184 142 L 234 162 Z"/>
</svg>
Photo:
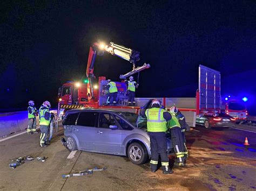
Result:
<svg viewBox="0 0 256 191">
<path fill-rule="evenodd" d="M 117 129 L 110 129 L 116 125 Z M 122 144 L 122 130 L 111 113 L 101 112 L 95 137 L 95 150 L 103 153 L 119 154 Z"/>
</svg>

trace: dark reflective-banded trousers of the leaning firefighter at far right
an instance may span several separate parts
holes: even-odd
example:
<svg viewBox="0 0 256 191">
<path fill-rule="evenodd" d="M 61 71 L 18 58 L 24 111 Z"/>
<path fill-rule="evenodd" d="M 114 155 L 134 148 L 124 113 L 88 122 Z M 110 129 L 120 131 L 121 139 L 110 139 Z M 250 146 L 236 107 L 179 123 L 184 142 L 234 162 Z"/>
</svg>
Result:
<svg viewBox="0 0 256 191">
<path fill-rule="evenodd" d="M 184 162 L 185 147 L 183 142 L 183 136 L 181 134 L 181 129 L 179 127 L 174 127 L 170 129 L 170 132 L 172 138 L 172 145 L 177 157 L 177 162 Z"/>
</svg>

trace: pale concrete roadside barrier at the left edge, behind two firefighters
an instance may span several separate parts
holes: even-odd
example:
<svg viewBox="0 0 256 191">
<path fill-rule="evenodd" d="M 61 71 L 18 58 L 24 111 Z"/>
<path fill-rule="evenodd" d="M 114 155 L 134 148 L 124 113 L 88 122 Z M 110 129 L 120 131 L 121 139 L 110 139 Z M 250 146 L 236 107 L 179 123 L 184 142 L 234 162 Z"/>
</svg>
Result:
<svg viewBox="0 0 256 191">
<path fill-rule="evenodd" d="M 51 110 L 56 113 L 56 110 Z M 37 126 L 39 125 L 39 118 Z M 9 136 L 13 133 L 28 129 L 28 111 L 17 111 L 0 114 L 0 138 Z"/>
</svg>

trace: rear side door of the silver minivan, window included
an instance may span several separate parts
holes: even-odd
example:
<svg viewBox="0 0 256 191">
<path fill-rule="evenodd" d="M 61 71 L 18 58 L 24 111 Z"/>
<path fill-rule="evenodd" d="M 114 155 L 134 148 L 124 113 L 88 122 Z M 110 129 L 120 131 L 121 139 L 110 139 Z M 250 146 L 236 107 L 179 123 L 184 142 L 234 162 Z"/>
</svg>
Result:
<svg viewBox="0 0 256 191">
<path fill-rule="evenodd" d="M 78 138 L 82 150 L 95 150 L 94 140 L 97 131 L 99 113 L 95 111 L 81 111 L 76 126 L 73 126 L 73 133 Z"/>
</svg>

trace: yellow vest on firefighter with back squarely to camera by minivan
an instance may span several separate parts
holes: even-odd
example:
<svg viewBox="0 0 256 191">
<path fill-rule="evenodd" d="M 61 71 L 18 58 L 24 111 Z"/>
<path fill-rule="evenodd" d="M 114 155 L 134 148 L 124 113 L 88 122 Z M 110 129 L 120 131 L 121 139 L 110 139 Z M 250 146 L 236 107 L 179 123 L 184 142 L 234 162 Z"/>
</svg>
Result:
<svg viewBox="0 0 256 191">
<path fill-rule="evenodd" d="M 166 121 L 164 119 L 164 109 L 151 108 L 146 110 L 147 132 L 166 132 Z"/>
</svg>

